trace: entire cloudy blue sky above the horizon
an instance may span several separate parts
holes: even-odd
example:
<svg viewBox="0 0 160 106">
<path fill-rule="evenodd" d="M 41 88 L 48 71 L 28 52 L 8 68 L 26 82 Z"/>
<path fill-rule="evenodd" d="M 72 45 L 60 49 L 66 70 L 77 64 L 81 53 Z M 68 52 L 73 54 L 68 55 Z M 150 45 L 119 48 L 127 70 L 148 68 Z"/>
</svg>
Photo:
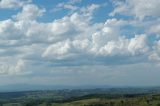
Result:
<svg viewBox="0 0 160 106">
<path fill-rule="evenodd" d="M 0 85 L 160 86 L 160 0 L 0 0 Z"/>
</svg>

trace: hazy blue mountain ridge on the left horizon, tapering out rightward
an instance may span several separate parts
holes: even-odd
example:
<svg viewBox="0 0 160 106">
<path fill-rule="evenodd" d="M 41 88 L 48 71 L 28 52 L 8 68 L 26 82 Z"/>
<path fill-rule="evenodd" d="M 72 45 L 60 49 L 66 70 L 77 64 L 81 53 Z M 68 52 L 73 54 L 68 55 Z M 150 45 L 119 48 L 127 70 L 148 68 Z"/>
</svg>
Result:
<svg viewBox="0 0 160 106">
<path fill-rule="evenodd" d="M 113 86 L 72 86 L 72 85 L 29 85 L 29 84 L 14 84 L 0 86 L 0 92 L 12 91 L 36 91 L 36 90 L 61 90 L 61 89 L 96 89 L 96 88 L 113 88 Z"/>
</svg>

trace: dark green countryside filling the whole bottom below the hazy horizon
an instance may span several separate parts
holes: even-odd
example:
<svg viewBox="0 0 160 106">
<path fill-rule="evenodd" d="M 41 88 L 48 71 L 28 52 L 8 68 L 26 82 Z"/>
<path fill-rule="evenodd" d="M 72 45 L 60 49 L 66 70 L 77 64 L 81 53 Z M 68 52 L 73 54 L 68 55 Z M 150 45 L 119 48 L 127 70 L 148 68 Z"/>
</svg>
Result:
<svg viewBox="0 0 160 106">
<path fill-rule="evenodd" d="M 160 106 L 159 88 L 0 93 L 0 106 Z"/>
</svg>

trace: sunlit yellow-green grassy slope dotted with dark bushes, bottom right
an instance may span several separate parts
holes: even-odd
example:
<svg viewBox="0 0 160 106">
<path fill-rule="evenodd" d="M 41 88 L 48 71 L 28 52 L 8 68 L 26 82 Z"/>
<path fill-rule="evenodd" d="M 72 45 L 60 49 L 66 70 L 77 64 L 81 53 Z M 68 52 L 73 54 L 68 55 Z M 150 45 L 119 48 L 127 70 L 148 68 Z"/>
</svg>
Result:
<svg viewBox="0 0 160 106">
<path fill-rule="evenodd" d="M 160 95 L 117 99 L 94 98 L 68 103 L 54 103 L 51 106 L 160 106 Z"/>
</svg>

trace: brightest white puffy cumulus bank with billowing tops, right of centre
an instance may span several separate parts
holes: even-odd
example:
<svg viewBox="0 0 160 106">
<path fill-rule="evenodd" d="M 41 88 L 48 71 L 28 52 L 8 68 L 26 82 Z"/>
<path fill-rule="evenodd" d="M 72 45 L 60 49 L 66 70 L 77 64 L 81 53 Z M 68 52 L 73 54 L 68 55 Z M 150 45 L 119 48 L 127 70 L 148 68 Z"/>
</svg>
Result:
<svg viewBox="0 0 160 106">
<path fill-rule="evenodd" d="M 108 19 L 104 26 L 98 27 L 90 35 L 79 38 L 80 33 L 77 33 L 74 39 L 68 37 L 68 40 L 50 45 L 42 56 L 49 60 L 63 60 L 79 59 L 81 55 L 94 58 L 95 56 L 137 56 L 147 53 L 150 49 L 147 35 L 135 35 L 130 39 L 120 35 L 120 27 L 126 24 L 127 22 L 123 20 Z M 85 31 L 88 29 L 83 29 L 81 33 L 85 34 Z"/>
</svg>

